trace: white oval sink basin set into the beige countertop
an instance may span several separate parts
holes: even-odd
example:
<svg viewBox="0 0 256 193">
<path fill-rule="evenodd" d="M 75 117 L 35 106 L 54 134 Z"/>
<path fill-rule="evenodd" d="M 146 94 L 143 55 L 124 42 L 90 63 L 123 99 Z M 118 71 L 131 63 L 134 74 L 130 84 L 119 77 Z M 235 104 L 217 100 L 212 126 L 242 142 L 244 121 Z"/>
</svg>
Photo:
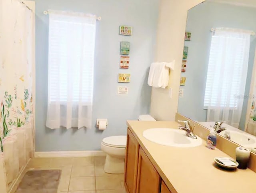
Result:
<svg viewBox="0 0 256 193">
<path fill-rule="evenodd" d="M 153 128 L 143 132 L 143 137 L 160 145 L 172 147 L 197 147 L 202 139 L 192 139 L 186 136 L 186 131 L 171 128 Z"/>
</svg>

